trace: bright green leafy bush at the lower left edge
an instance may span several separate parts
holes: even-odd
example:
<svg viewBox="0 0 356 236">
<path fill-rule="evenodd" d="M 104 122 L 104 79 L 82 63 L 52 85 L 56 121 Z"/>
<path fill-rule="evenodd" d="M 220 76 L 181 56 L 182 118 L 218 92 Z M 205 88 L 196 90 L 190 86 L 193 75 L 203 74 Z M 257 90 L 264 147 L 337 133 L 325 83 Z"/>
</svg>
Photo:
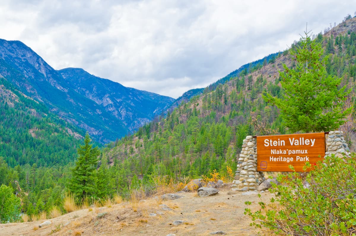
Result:
<svg viewBox="0 0 356 236">
<path fill-rule="evenodd" d="M 20 219 L 20 198 L 12 193 L 12 189 L 4 184 L 0 186 L 0 222 L 14 222 Z"/>
</svg>

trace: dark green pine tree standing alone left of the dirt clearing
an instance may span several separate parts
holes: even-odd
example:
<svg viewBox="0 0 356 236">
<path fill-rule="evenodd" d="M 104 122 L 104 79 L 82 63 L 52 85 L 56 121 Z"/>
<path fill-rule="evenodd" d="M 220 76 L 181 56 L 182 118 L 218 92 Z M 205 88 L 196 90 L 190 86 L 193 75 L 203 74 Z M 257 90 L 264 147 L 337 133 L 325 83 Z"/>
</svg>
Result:
<svg viewBox="0 0 356 236">
<path fill-rule="evenodd" d="M 95 194 L 95 170 L 100 151 L 98 147 L 93 148 L 90 141 L 87 133 L 84 138 L 84 145 L 77 149 L 79 157 L 75 162 L 75 168 L 72 170 L 73 177 L 70 182 L 70 189 L 79 199 Z"/>
</svg>

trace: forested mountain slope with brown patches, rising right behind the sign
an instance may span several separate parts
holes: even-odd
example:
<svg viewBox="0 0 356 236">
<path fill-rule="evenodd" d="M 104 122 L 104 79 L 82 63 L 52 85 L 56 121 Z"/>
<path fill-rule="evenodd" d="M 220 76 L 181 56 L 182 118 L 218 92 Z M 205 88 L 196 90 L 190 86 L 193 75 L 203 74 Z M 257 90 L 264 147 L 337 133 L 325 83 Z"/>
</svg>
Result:
<svg viewBox="0 0 356 236">
<path fill-rule="evenodd" d="M 314 35 L 325 48 L 323 56 L 328 56 L 327 72 L 342 77 L 340 86 L 347 84 L 352 91 L 356 78 L 356 32 L 352 27 L 355 21 L 352 18 L 341 23 L 350 26 L 350 30 L 343 30 L 340 35 Z M 291 47 L 297 45 L 295 42 Z M 236 156 L 246 135 L 288 132 L 277 108 L 264 101 L 261 94 L 266 91 L 281 96 L 278 71 L 283 70 L 283 64 L 294 67 L 294 63 L 289 50 L 277 53 L 268 61 L 241 70 L 226 83 L 216 85 L 213 91 L 206 88 L 203 94 L 181 104 L 166 118 L 144 125 L 135 135 L 111 143 L 104 154 L 115 176 L 129 179 L 117 182 L 120 191 L 130 188 L 135 175 L 143 175 L 143 181 L 150 174 L 179 181 L 184 176 L 195 178 L 213 170 L 227 176 L 227 166 L 235 169 Z M 345 104 L 345 108 L 348 106 L 353 103 Z M 354 116 L 353 112 L 341 129 L 352 133 Z"/>
</svg>

